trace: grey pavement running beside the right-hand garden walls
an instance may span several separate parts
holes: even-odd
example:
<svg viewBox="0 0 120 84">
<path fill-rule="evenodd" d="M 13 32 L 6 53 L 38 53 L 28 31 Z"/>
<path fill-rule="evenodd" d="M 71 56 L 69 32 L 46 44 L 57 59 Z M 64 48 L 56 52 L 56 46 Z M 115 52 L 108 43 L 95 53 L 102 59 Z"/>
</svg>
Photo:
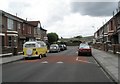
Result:
<svg viewBox="0 0 120 84">
<path fill-rule="evenodd" d="M 120 84 L 120 54 L 111 54 L 105 51 L 92 49 L 92 55 L 96 61 L 101 65 L 105 72 L 113 79 L 113 81 Z"/>
</svg>

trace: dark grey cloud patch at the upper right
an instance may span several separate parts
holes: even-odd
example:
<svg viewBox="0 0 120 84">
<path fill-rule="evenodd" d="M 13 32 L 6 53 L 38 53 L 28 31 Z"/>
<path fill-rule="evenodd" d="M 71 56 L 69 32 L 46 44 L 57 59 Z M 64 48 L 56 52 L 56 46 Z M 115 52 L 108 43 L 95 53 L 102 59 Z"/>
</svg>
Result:
<svg viewBox="0 0 120 84">
<path fill-rule="evenodd" d="M 117 2 L 73 2 L 72 12 L 89 16 L 111 16 L 117 8 Z"/>
</svg>

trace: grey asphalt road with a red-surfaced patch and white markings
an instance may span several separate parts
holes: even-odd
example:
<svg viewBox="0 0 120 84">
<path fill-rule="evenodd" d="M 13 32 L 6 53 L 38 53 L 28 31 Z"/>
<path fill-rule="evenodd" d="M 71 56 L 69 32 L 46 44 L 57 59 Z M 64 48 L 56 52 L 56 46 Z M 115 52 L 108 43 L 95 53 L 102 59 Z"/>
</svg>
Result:
<svg viewBox="0 0 120 84">
<path fill-rule="evenodd" d="M 92 56 L 77 56 L 77 47 L 48 53 L 42 59 L 2 65 L 3 82 L 112 82 Z"/>
</svg>

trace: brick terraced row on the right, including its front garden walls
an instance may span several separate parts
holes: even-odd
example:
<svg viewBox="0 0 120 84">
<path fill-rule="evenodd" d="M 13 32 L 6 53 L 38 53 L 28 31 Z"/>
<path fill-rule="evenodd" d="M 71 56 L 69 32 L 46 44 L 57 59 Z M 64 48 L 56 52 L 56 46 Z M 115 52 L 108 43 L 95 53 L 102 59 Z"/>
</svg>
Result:
<svg viewBox="0 0 120 84">
<path fill-rule="evenodd" d="M 120 11 L 98 29 L 94 37 L 97 47 L 114 53 L 120 52 Z"/>
</svg>

